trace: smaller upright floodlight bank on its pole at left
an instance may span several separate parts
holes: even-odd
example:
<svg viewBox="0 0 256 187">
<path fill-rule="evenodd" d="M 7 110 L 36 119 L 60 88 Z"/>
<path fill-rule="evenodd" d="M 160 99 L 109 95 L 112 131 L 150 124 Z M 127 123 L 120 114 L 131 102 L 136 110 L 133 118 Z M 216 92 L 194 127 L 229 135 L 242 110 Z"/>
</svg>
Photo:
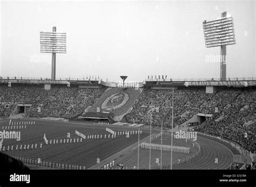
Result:
<svg viewBox="0 0 256 187">
<path fill-rule="evenodd" d="M 66 53 L 66 33 L 40 31 L 40 52 L 52 53 L 51 80 L 56 78 L 56 53 Z"/>
</svg>

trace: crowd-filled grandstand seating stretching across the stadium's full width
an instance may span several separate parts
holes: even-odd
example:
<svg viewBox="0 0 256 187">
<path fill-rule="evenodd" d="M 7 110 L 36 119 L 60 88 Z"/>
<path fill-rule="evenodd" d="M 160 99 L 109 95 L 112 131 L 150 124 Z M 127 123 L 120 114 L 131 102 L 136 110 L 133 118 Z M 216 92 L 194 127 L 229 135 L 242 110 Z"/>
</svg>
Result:
<svg viewBox="0 0 256 187">
<path fill-rule="evenodd" d="M 125 107 L 110 110 L 110 112 L 114 116 L 125 114 L 124 117 L 122 116 L 123 119 L 119 118 L 124 122 L 142 124 L 150 124 L 152 113 L 152 125 L 160 125 L 163 119 L 163 125 L 170 127 L 172 90 L 144 88 L 143 92 L 141 91 L 142 89 L 126 89 L 129 99 Z M 77 85 L 71 85 L 71 87 L 52 85 L 51 90 L 44 90 L 41 84 L 13 84 L 11 88 L 6 84 L 0 84 L 0 115 L 8 117 L 18 103 L 24 103 L 32 104 L 26 113 L 27 116 L 78 117 L 91 105 L 88 112 L 96 112 L 97 107 L 102 107 L 106 98 L 119 92 L 122 92 L 121 88 L 105 91 L 105 89 L 78 88 Z M 223 87 L 214 94 L 205 93 L 204 87 L 178 87 L 174 90 L 173 97 L 174 126 L 183 124 L 197 113 L 213 114 L 197 126 L 196 130 L 233 140 L 254 152 L 256 134 L 254 87 Z M 38 112 L 38 106 L 42 106 L 41 112 Z M 159 112 L 152 110 L 156 107 Z M 216 107 L 218 111 L 215 110 Z"/>
</svg>

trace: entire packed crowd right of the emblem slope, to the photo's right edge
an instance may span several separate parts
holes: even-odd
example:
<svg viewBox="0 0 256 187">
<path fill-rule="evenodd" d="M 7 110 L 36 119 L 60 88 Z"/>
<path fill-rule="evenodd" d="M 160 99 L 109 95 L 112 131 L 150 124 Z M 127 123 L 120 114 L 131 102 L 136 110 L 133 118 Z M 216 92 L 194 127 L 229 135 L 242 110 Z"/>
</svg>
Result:
<svg viewBox="0 0 256 187">
<path fill-rule="evenodd" d="M 205 93 L 205 88 L 174 90 L 173 125 L 181 125 L 197 113 L 212 114 L 197 127 L 198 131 L 233 140 L 254 152 L 255 97 L 255 88 L 221 88 L 213 94 Z M 144 89 L 133 110 L 123 120 L 150 124 L 151 114 L 152 125 L 160 126 L 163 120 L 164 126 L 171 126 L 172 90 Z"/>
</svg>

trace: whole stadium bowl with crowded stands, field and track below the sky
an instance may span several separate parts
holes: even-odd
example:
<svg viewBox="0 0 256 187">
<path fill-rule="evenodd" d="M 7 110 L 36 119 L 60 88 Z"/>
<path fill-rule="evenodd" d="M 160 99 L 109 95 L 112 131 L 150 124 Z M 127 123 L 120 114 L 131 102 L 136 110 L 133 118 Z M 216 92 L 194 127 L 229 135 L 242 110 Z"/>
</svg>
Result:
<svg viewBox="0 0 256 187">
<path fill-rule="evenodd" d="M 137 85 L 2 78 L 0 128 L 21 132 L 20 141 L 5 137 L 2 152 L 35 169 L 170 169 L 171 152 L 163 146 L 172 142 L 173 97 L 173 133 L 197 132 L 196 140 L 174 134 L 173 146 L 189 152 L 173 151 L 173 169 L 252 162 L 254 80 L 149 79 Z M 150 141 L 159 148 L 142 146 Z"/>
</svg>

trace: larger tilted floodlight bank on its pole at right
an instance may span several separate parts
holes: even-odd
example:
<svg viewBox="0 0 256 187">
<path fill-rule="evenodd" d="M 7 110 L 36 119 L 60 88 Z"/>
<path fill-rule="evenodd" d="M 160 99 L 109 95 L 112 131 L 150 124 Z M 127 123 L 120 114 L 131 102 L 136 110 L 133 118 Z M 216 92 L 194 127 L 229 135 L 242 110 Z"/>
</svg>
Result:
<svg viewBox="0 0 256 187">
<path fill-rule="evenodd" d="M 234 23 L 231 15 L 221 13 L 221 18 L 203 21 L 205 46 L 220 46 L 220 80 L 226 81 L 226 46 L 235 44 Z"/>
</svg>

